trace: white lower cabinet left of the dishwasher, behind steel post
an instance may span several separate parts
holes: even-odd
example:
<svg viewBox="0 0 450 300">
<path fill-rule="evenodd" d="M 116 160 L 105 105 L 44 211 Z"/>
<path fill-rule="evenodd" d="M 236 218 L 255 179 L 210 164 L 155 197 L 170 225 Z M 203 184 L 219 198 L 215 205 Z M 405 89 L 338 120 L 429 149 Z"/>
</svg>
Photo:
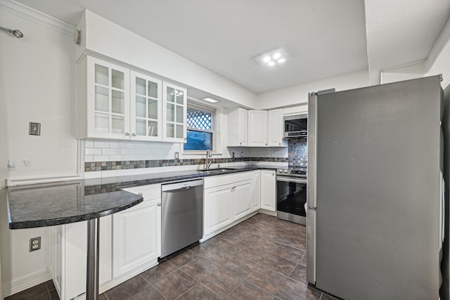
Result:
<svg viewBox="0 0 450 300">
<path fill-rule="evenodd" d="M 161 185 L 127 188 L 143 202 L 100 218 L 99 292 L 158 263 L 161 253 Z M 50 228 L 50 270 L 61 300 L 86 292 L 86 221 Z"/>
</svg>

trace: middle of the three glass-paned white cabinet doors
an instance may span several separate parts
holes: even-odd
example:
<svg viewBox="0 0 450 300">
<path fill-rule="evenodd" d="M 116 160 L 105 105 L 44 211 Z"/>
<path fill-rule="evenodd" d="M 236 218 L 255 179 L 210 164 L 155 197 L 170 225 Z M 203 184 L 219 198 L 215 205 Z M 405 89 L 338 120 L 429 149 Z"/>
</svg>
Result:
<svg viewBox="0 0 450 300">
<path fill-rule="evenodd" d="M 131 138 L 162 141 L 162 81 L 131 71 Z"/>
</svg>

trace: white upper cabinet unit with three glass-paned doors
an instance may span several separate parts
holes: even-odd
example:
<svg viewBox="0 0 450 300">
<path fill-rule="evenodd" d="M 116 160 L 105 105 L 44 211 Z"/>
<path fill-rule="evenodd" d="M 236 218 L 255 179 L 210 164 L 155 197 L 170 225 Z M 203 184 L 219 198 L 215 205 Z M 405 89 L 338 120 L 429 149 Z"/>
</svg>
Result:
<svg viewBox="0 0 450 300">
<path fill-rule="evenodd" d="M 186 89 L 92 56 L 77 72 L 77 138 L 186 143 Z"/>
</svg>

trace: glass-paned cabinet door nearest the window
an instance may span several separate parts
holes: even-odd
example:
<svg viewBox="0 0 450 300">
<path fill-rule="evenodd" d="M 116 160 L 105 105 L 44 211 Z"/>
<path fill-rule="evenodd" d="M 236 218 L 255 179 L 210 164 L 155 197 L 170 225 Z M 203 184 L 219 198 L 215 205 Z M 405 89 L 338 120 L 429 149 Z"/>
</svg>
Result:
<svg viewBox="0 0 450 300">
<path fill-rule="evenodd" d="M 163 140 L 186 143 L 186 89 L 163 82 L 162 91 L 165 100 L 162 112 Z"/>
</svg>

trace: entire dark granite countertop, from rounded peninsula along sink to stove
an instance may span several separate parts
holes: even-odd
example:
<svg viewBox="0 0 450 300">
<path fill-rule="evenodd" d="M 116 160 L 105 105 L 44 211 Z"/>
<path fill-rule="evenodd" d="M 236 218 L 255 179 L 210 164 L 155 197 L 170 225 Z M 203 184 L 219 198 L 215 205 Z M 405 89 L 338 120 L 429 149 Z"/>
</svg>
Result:
<svg viewBox="0 0 450 300">
<path fill-rule="evenodd" d="M 247 164 L 224 167 L 222 171 L 217 169 L 169 171 L 10 186 L 7 196 L 9 228 L 35 228 L 86 221 L 114 214 L 143 201 L 142 196 L 121 190 L 122 188 L 280 167 L 284 166 Z"/>
</svg>

